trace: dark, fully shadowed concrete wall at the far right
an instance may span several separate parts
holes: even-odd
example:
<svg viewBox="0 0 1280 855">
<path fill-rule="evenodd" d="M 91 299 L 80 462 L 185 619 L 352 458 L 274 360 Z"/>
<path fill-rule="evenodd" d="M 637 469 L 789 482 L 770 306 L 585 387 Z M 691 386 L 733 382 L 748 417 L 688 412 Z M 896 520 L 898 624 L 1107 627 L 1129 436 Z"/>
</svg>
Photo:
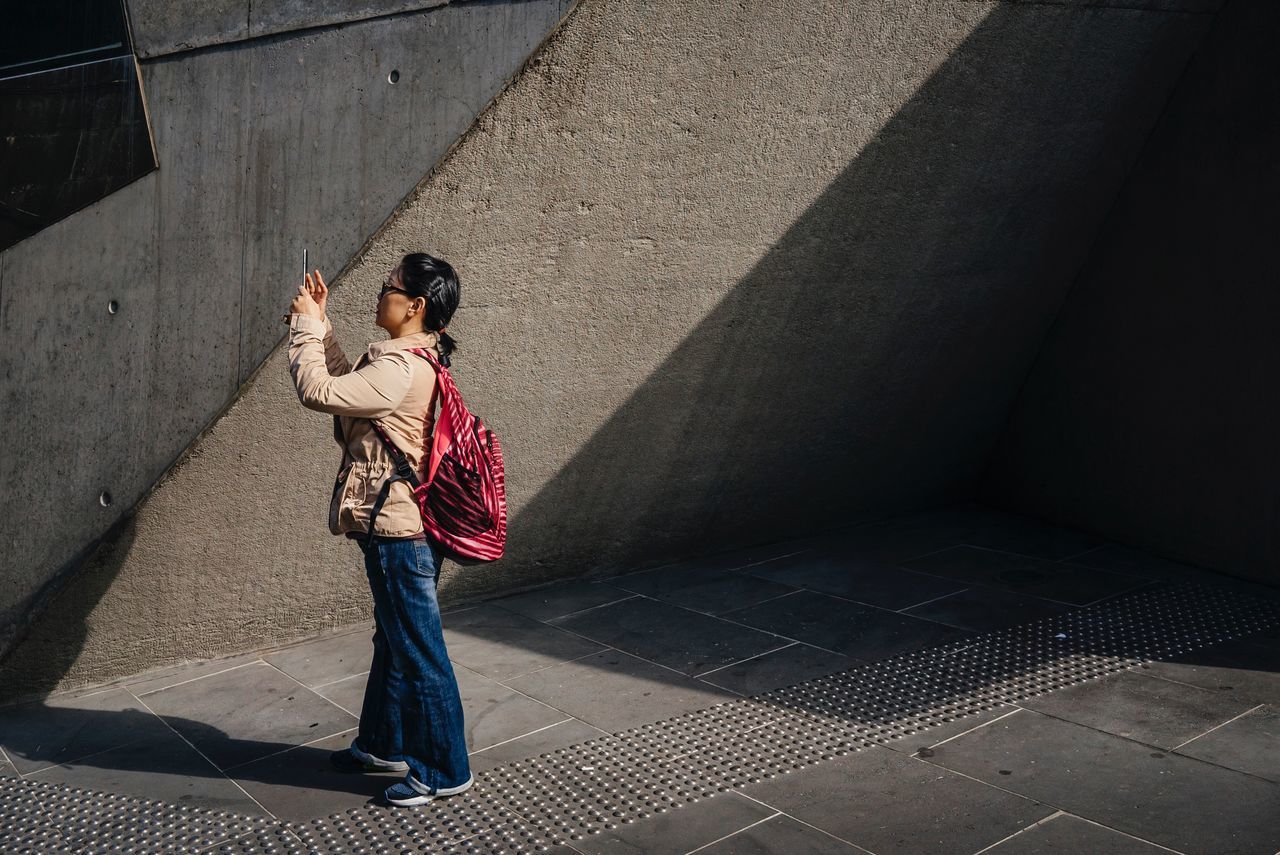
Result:
<svg viewBox="0 0 1280 855">
<path fill-rule="evenodd" d="M 1107 218 L 987 495 L 1280 582 L 1280 6 L 1233 0 Z"/>
</svg>

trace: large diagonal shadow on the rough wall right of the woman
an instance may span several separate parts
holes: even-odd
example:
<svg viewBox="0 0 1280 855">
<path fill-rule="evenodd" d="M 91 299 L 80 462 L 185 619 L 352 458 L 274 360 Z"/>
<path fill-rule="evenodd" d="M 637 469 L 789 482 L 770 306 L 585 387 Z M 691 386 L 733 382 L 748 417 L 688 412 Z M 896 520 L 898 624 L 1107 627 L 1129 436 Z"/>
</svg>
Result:
<svg viewBox="0 0 1280 855">
<path fill-rule="evenodd" d="M 1208 20 L 995 8 L 520 509 L 511 576 L 969 497 Z"/>
</svg>

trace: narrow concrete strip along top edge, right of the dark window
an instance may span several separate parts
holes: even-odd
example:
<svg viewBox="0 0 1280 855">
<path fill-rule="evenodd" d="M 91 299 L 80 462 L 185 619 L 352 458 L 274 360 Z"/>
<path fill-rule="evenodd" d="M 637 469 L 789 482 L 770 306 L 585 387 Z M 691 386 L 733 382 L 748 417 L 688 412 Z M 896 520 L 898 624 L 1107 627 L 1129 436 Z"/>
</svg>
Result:
<svg viewBox="0 0 1280 855">
<path fill-rule="evenodd" d="M 151 58 L 197 47 L 367 20 L 406 12 L 424 12 L 449 0 L 127 0 L 133 47 Z"/>
</svg>

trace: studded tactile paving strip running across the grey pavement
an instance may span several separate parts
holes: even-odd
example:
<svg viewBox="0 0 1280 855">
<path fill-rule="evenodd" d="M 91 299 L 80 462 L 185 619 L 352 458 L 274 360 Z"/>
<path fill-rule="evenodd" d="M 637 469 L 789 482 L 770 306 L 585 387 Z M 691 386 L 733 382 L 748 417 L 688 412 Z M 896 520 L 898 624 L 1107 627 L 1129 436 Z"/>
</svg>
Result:
<svg viewBox="0 0 1280 855">
<path fill-rule="evenodd" d="M 476 776 L 413 809 L 275 823 L 0 778 L 0 851 L 225 855 L 545 851 L 718 792 L 1280 625 L 1280 603 L 1199 586 L 859 666 Z"/>
</svg>

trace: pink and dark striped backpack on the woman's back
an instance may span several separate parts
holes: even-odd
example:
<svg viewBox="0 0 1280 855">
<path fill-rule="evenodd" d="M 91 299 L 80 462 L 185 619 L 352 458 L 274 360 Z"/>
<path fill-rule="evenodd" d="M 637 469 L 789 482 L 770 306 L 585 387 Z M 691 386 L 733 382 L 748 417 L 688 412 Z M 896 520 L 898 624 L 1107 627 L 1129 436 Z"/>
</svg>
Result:
<svg viewBox="0 0 1280 855">
<path fill-rule="evenodd" d="M 502 558 L 507 548 L 507 488 L 498 436 L 480 417 L 467 410 L 449 370 L 430 352 L 411 348 L 435 369 L 440 415 L 428 442 L 431 454 L 426 477 L 419 480 L 404 453 L 375 421 L 374 431 L 396 462 L 396 475 L 387 479 L 369 518 L 372 540 L 374 521 L 390 495 L 392 484 L 408 481 L 422 512 L 422 529 L 460 563 L 479 563 Z"/>
</svg>

